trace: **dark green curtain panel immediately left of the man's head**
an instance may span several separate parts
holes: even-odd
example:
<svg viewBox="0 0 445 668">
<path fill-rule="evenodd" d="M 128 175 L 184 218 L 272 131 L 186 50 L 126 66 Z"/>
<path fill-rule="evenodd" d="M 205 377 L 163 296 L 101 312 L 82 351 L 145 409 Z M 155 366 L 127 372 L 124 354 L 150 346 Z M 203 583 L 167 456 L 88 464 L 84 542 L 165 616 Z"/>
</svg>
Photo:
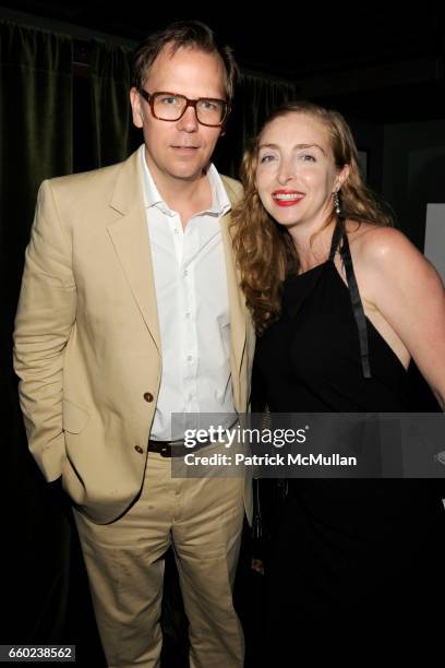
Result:
<svg viewBox="0 0 445 668">
<path fill-rule="evenodd" d="M 94 167 L 127 158 L 143 141 L 130 108 L 131 50 L 93 41 L 89 81 Z"/>
</svg>

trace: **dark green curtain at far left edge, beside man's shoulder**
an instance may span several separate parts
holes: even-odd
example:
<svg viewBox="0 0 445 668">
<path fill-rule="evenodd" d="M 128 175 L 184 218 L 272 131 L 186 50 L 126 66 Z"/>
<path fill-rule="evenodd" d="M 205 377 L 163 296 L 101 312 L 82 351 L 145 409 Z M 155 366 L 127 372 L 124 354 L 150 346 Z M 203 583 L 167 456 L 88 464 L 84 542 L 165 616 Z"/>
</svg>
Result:
<svg viewBox="0 0 445 668">
<path fill-rule="evenodd" d="M 11 332 L 39 183 L 72 171 L 72 39 L 0 23 L 0 261 Z"/>
</svg>

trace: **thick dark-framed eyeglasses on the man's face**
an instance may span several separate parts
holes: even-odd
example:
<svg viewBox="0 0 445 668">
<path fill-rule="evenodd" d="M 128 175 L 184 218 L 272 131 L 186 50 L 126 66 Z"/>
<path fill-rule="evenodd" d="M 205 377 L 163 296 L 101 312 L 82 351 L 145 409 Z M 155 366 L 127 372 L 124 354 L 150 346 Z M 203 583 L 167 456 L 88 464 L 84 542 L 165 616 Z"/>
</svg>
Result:
<svg viewBox="0 0 445 668">
<path fill-rule="evenodd" d="M 220 128 L 230 112 L 230 105 L 225 99 L 189 99 L 185 95 L 148 93 L 145 88 L 139 88 L 139 94 L 149 104 L 153 116 L 158 120 L 177 121 L 182 118 L 188 107 L 193 107 L 199 123 L 208 128 Z"/>
</svg>

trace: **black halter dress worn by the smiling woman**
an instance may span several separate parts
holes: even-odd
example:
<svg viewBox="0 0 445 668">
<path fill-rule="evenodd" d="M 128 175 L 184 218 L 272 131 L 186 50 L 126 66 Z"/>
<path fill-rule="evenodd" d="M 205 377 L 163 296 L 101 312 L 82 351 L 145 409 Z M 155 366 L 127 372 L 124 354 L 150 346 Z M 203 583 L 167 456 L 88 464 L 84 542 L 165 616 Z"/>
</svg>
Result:
<svg viewBox="0 0 445 668">
<path fill-rule="evenodd" d="M 337 251 L 348 284 L 334 264 Z M 280 318 L 257 342 L 256 402 L 270 413 L 437 410 L 426 393 L 417 392 L 413 405 L 411 378 L 364 315 L 340 220 L 328 260 L 285 282 Z M 412 639 L 428 648 L 443 637 L 445 490 L 437 481 L 292 479 L 279 512 L 268 482 L 260 484 L 263 516 L 272 517 L 268 661 L 298 665 L 302 646 L 314 659 L 341 657 L 359 639 L 366 653 L 368 641 L 381 647 L 384 636 L 386 648 L 408 656 Z"/>
</svg>

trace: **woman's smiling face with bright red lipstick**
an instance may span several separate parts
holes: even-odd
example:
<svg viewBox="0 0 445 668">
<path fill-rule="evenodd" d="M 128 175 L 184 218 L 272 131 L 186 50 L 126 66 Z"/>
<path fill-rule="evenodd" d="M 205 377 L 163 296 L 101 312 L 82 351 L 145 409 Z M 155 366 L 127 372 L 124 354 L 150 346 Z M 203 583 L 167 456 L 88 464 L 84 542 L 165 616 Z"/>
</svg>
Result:
<svg viewBox="0 0 445 668">
<path fill-rule="evenodd" d="M 335 164 L 325 127 L 309 115 L 278 117 L 260 136 L 256 188 L 266 211 L 289 229 L 324 223 L 346 172 Z"/>
</svg>

